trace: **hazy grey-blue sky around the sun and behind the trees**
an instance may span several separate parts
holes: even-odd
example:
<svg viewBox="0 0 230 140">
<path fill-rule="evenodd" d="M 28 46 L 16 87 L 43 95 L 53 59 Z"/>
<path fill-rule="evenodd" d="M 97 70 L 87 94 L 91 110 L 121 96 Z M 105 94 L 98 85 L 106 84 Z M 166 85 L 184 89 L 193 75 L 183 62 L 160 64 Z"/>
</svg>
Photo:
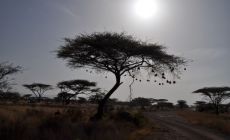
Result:
<svg viewBox="0 0 230 140">
<path fill-rule="evenodd" d="M 166 46 L 169 53 L 193 60 L 176 85 L 158 86 L 136 82 L 134 96 L 200 99 L 192 91 L 204 86 L 230 86 L 230 1 L 152 0 L 156 11 L 144 19 L 136 14 L 136 0 L 1 0 L 0 61 L 24 67 L 15 90 L 30 91 L 22 84 L 42 82 L 55 85 L 62 80 L 87 79 L 109 90 L 114 78 L 71 70 L 53 51 L 64 37 L 80 33 L 126 32 L 147 42 Z M 143 79 L 146 79 L 143 77 Z M 124 79 L 113 97 L 127 100 Z M 50 96 L 57 91 L 49 92 Z"/>
</svg>

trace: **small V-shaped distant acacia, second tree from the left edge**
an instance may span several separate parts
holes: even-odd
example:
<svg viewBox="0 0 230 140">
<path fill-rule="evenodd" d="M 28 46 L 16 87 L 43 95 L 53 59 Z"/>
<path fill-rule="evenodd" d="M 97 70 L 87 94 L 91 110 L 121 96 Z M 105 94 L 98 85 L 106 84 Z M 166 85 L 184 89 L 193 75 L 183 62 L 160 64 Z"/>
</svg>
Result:
<svg viewBox="0 0 230 140">
<path fill-rule="evenodd" d="M 42 96 L 46 91 L 52 89 L 51 85 L 42 84 L 42 83 L 25 84 L 23 86 L 29 89 L 30 91 L 32 91 L 35 97 L 38 98 L 38 101 L 41 101 Z"/>
</svg>

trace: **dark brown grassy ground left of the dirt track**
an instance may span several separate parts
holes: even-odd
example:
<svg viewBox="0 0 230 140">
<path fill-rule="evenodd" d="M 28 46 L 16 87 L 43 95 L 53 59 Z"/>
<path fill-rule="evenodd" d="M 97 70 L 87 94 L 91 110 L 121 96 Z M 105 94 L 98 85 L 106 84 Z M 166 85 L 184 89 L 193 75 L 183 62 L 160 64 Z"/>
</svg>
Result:
<svg viewBox="0 0 230 140">
<path fill-rule="evenodd" d="M 89 121 L 95 108 L 0 105 L 4 140 L 139 140 L 154 129 L 137 111 L 118 111 Z"/>
</svg>

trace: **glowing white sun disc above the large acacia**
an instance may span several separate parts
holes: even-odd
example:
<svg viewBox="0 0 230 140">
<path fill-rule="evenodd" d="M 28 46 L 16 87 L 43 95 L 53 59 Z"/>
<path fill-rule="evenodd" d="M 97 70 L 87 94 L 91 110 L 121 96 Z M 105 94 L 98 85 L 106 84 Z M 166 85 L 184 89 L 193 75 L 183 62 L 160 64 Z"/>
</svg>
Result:
<svg viewBox="0 0 230 140">
<path fill-rule="evenodd" d="M 134 5 L 135 13 L 143 18 L 152 18 L 157 12 L 157 4 L 154 0 L 137 0 Z"/>
</svg>

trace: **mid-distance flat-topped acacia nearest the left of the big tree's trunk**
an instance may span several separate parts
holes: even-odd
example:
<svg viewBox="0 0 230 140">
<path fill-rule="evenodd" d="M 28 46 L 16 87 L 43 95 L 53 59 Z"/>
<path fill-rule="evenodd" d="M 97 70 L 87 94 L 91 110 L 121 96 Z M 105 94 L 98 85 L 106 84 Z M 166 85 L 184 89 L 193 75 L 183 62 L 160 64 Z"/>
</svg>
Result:
<svg viewBox="0 0 230 140">
<path fill-rule="evenodd" d="M 87 94 L 91 92 L 92 91 L 91 88 L 95 86 L 96 86 L 95 82 L 89 82 L 87 80 L 62 81 L 57 84 L 57 87 L 60 88 L 61 90 L 58 96 L 66 104 L 69 104 L 71 98 L 77 97 L 77 95 L 79 94 Z"/>
</svg>

